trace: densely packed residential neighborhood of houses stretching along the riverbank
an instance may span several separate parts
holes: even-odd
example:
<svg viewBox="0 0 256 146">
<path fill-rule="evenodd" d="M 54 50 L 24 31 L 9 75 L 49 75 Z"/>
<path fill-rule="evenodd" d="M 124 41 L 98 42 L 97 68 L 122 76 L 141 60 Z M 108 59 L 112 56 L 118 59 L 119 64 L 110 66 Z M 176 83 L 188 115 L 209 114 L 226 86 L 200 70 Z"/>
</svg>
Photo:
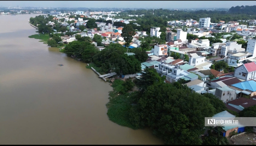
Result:
<svg viewBox="0 0 256 146">
<path fill-rule="evenodd" d="M 65 46 L 82 39 L 84 40 L 81 42 L 90 42 L 89 46 L 92 44 L 98 54 L 109 51 L 109 46 L 113 50 L 118 46 L 127 50 L 124 60 L 130 60 L 122 66 L 132 66 L 131 64 L 136 62 L 139 67 L 133 67 L 136 70 L 126 70 L 124 73 L 125 69 L 120 69 L 121 66 L 112 67 L 114 65 L 107 62 L 108 67 L 104 68 L 108 70 L 104 72 L 106 78 L 103 78 L 103 75 L 99 75 L 99 78 L 105 82 L 109 78 L 111 85 L 115 80 L 140 82 L 148 69 L 152 69 L 164 78 L 166 84 L 182 84 L 198 96 L 212 96 L 218 99 L 227 110 L 219 111 L 213 117 L 236 117 L 245 108 L 256 106 L 256 20 L 220 20 L 218 23 L 212 23 L 210 17 L 198 20 L 171 20 L 166 22 L 166 26 L 152 25 L 145 31 L 140 29 L 144 24 L 138 21 L 144 14 L 127 14 L 129 19 L 115 18 L 120 13 L 122 12 L 53 11 L 44 15 L 44 18 L 53 19 L 48 21 L 46 26 L 53 31 L 50 34 L 52 39 L 58 35 L 54 47 L 61 44 L 63 47 L 60 50 L 65 50 Z M 33 18 L 29 23 L 34 21 L 32 20 Z M 33 24 L 36 25 L 33 25 L 34 27 L 40 27 L 40 24 Z M 127 39 L 128 35 L 130 40 Z M 51 46 L 49 42 L 50 40 L 48 46 Z M 78 54 L 80 58 L 77 58 L 70 52 L 67 53 L 68 56 L 78 61 L 86 60 L 88 66 L 97 64 L 92 61 L 97 60 L 98 66 L 90 66 L 97 74 L 100 74 L 100 69 L 94 68 L 100 68 L 101 60 L 109 59 L 103 54 L 100 55 L 104 56 L 104 59 L 100 55 L 95 57 L 91 54 L 84 57 L 86 59 L 81 59 L 83 53 Z M 146 57 L 139 60 L 141 52 Z M 136 58 L 136 61 L 131 61 L 132 58 Z M 119 61 L 123 63 L 124 60 Z M 112 72 L 113 70 L 116 72 Z M 112 77 L 111 74 L 116 76 Z M 222 136 L 228 137 L 234 130 L 244 132 L 245 128 L 226 127 L 222 130 Z"/>
</svg>

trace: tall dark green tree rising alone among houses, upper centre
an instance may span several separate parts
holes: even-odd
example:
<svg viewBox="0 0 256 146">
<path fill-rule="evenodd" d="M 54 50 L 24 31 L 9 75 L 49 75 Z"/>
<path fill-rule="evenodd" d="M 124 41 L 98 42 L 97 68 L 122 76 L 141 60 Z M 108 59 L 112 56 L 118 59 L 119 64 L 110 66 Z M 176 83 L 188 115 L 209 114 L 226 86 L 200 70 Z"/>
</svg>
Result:
<svg viewBox="0 0 256 146">
<path fill-rule="evenodd" d="M 132 26 L 130 24 L 124 26 L 124 28 L 122 29 L 122 34 L 121 36 L 124 38 L 125 40 L 125 46 L 128 47 L 130 46 L 130 43 L 132 42 L 132 36 L 134 36 L 135 30 L 132 28 Z"/>
</svg>

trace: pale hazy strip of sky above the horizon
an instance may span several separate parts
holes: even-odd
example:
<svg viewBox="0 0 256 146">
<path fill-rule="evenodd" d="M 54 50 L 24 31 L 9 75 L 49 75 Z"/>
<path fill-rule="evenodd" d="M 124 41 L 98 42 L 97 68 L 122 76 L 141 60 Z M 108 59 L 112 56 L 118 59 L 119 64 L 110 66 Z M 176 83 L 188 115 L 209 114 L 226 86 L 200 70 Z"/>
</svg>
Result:
<svg viewBox="0 0 256 146">
<path fill-rule="evenodd" d="M 256 1 L 1 1 L 4 7 L 69 7 L 69 8 L 231 8 L 253 6 Z"/>
</svg>

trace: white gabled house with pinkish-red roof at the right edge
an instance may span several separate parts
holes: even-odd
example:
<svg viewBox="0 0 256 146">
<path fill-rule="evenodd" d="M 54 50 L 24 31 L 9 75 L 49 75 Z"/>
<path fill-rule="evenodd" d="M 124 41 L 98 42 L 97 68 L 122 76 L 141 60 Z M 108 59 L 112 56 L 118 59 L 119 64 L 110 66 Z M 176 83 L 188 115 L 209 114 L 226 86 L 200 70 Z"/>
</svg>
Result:
<svg viewBox="0 0 256 146">
<path fill-rule="evenodd" d="M 234 76 L 242 80 L 256 80 L 256 62 L 242 64 L 235 69 Z"/>
</svg>

